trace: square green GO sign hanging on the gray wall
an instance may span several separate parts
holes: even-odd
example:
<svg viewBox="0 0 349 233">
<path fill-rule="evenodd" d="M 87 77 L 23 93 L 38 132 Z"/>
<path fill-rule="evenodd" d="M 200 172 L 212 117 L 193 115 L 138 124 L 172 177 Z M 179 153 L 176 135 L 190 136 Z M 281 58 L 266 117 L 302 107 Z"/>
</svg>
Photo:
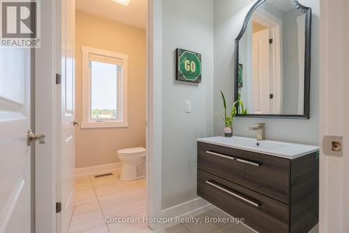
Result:
<svg viewBox="0 0 349 233">
<path fill-rule="evenodd" d="M 182 49 L 177 49 L 176 54 L 176 80 L 201 82 L 201 54 Z"/>
</svg>

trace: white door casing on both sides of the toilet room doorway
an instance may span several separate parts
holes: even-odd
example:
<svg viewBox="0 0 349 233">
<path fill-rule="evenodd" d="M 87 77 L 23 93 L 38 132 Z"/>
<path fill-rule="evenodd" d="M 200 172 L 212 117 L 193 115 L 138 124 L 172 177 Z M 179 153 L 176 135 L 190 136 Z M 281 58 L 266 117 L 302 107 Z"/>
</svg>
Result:
<svg viewBox="0 0 349 233">
<path fill-rule="evenodd" d="M 41 2 L 41 47 L 35 56 L 35 130 L 47 135 L 36 149 L 36 232 L 56 232 L 57 21 L 61 1 Z M 58 10 L 58 11 L 57 11 Z M 162 3 L 147 0 L 147 216 L 161 216 Z M 157 225 L 150 225 L 156 228 Z"/>
</svg>

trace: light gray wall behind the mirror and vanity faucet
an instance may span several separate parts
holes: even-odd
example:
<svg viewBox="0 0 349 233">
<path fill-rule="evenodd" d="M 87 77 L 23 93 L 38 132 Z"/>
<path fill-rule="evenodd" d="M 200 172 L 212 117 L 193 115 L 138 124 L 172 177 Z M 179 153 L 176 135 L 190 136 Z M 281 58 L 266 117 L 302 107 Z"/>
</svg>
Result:
<svg viewBox="0 0 349 233">
<path fill-rule="evenodd" d="M 311 53 L 311 119 L 235 119 L 234 133 L 255 137 L 248 126 L 255 122 L 267 124 L 267 138 L 304 144 L 318 144 L 319 128 L 319 1 L 299 1 L 313 9 L 312 53 Z M 222 112 L 221 96 L 223 90 L 228 99 L 233 96 L 233 57 L 234 41 L 241 30 L 244 17 L 255 0 L 214 1 L 214 112 Z M 214 135 L 223 135 L 223 123 L 214 118 Z"/>
</svg>

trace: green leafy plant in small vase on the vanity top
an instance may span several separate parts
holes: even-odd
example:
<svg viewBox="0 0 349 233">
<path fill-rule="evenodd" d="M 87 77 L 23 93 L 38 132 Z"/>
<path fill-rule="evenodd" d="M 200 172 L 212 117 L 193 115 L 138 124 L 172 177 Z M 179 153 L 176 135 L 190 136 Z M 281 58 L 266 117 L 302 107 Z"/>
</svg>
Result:
<svg viewBox="0 0 349 233">
<path fill-rule="evenodd" d="M 225 137 L 232 137 L 232 121 L 233 121 L 235 115 L 237 114 L 237 107 L 239 107 L 239 110 L 242 112 L 242 114 L 246 114 L 247 110 L 244 109 L 244 103 L 242 103 L 242 100 L 237 100 L 232 105 L 232 109 L 230 110 L 230 113 L 228 113 L 227 103 L 225 101 L 225 96 L 223 94 L 223 91 L 221 91 L 221 96 L 223 99 L 224 117 L 222 115 L 220 115 L 220 117 L 221 117 L 221 119 L 223 119 L 223 121 L 225 123 L 224 136 Z"/>
</svg>

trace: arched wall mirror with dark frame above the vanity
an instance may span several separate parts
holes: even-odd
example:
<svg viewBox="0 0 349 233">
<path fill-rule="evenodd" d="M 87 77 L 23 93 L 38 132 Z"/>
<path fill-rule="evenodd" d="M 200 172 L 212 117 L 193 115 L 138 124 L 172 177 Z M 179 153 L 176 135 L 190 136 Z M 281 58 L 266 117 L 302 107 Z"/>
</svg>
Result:
<svg viewBox="0 0 349 233">
<path fill-rule="evenodd" d="M 235 40 L 237 117 L 309 119 L 311 8 L 258 0 Z"/>
</svg>

